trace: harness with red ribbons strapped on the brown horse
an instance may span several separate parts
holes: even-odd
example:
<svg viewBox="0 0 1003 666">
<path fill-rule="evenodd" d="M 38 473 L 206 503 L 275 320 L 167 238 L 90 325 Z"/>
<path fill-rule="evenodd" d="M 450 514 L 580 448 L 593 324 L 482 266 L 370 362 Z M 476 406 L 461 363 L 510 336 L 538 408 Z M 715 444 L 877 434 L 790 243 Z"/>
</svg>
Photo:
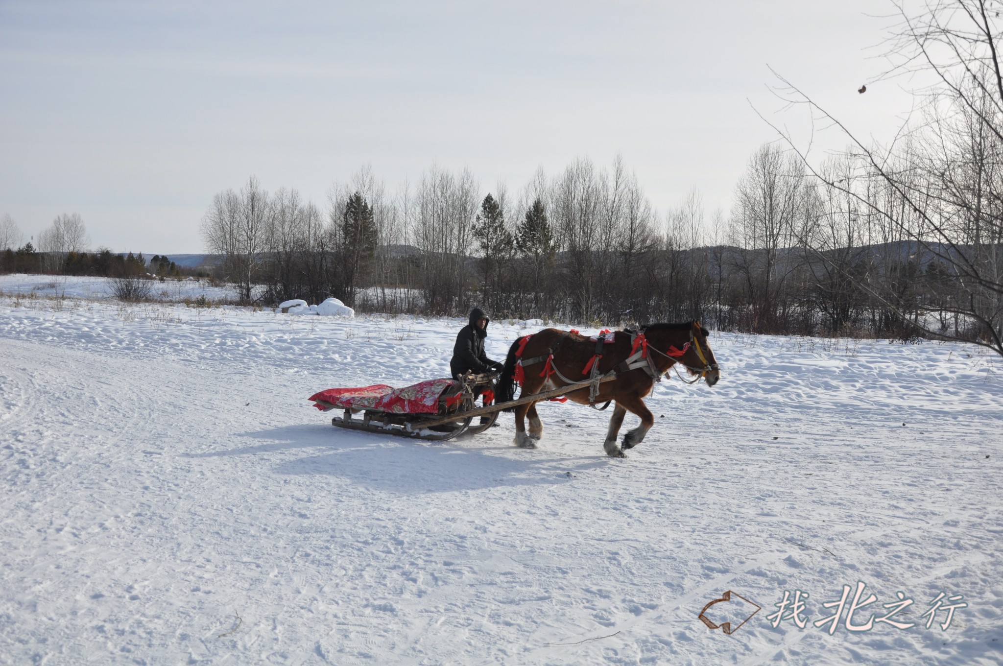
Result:
<svg viewBox="0 0 1003 666">
<path fill-rule="evenodd" d="M 592 338 L 593 340 L 596 341 L 596 350 L 592 358 L 585 365 L 585 369 L 582 370 L 582 374 L 588 375 L 589 380 L 591 382 L 589 385 L 590 407 L 592 407 L 593 409 L 603 410 L 606 409 L 608 406 L 610 406 L 610 402 L 612 402 L 612 400 L 608 400 L 606 404 L 604 404 L 602 407 L 596 406 L 596 399 L 599 397 L 600 384 L 602 383 L 603 379 L 607 377 L 617 375 L 622 372 L 629 372 L 630 370 L 643 369 L 648 374 L 648 376 L 652 378 L 653 381 L 660 382 L 662 380 L 663 373 L 658 370 L 658 366 L 655 365 L 655 361 L 652 354 L 648 353 L 649 351 L 653 351 L 656 354 L 659 354 L 661 356 L 664 356 L 665 358 L 670 359 L 672 361 L 672 365 L 678 363 L 692 372 L 698 372 L 699 376 L 693 379 L 693 381 L 686 381 L 685 379 L 682 378 L 682 376 L 679 376 L 679 379 L 687 384 L 692 384 L 696 381 L 699 381 L 700 379 L 706 377 L 708 372 L 718 369 L 717 363 L 707 362 L 707 357 L 704 355 L 703 349 L 700 348 L 700 342 L 697 340 L 696 336 L 693 335 L 692 328 L 690 329 L 689 332 L 690 341 L 684 344 L 682 349 L 676 349 L 674 345 L 669 345 L 669 348 L 664 352 L 648 344 L 648 339 L 645 337 L 644 331 L 645 327 L 642 327 L 636 331 L 629 329 L 624 331 L 625 333 L 630 333 L 631 335 L 630 354 L 628 354 L 626 359 L 615 365 L 608 372 L 602 372 L 599 369 L 599 364 L 603 358 L 604 345 L 613 343 L 615 341 L 616 333 L 607 329 L 601 331 L 599 335 Z M 565 338 L 571 335 L 571 333 L 578 333 L 578 331 L 572 330 L 570 332 L 566 332 L 560 335 L 558 338 L 554 340 L 554 342 L 551 343 L 548 353 L 527 359 L 523 358 L 523 352 L 526 349 L 526 345 L 529 344 L 530 339 L 533 337 L 533 335 L 527 335 L 526 337 L 524 337 L 520 341 L 519 347 L 516 349 L 516 357 L 519 359 L 516 362 L 516 371 L 513 374 L 513 378 L 515 379 L 516 383 L 518 383 L 521 386 L 523 385 L 523 382 L 526 380 L 525 368 L 527 366 L 535 365 L 543 361 L 546 361 L 546 364 L 544 365 L 544 369 L 540 373 L 540 376 L 544 377 L 545 381 L 549 379 L 551 375 L 555 374 L 566 384 L 575 384 L 582 381 L 581 379 L 578 380 L 570 379 L 569 377 L 564 376 L 564 374 L 560 370 L 558 370 L 557 366 L 554 365 L 554 352 L 557 351 L 557 348 L 561 345 L 562 342 L 564 342 Z M 691 346 L 693 347 L 693 351 L 696 352 L 697 358 L 699 358 L 700 362 L 703 363 L 702 368 L 694 368 L 678 360 L 690 349 Z M 679 374 L 678 368 L 676 369 L 676 374 L 677 375 Z M 556 399 L 562 402 L 567 400 L 567 398 L 556 398 Z"/>
</svg>

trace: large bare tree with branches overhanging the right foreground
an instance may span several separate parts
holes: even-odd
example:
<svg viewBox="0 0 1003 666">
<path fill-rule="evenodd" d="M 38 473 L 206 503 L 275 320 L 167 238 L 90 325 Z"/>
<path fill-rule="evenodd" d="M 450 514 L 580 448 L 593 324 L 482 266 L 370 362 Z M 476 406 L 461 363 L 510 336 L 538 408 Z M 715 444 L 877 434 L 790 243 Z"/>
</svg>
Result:
<svg viewBox="0 0 1003 666">
<path fill-rule="evenodd" d="M 789 81 L 791 100 L 830 121 L 853 144 L 854 156 L 881 182 L 887 197 L 870 204 L 875 214 L 922 254 L 916 277 L 934 262 L 930 285 L 935 302 L 920 303 L 916 316 L 905 311 L 885 285 L 858 281 L 875 300 L 918 331 L 940 339 L 963 339 L 1003 355 L 1003 63 L 1000 12 L 993 0 L 895 2 L 899 24 L 893 28 L 884 78 L 919 75 L 915 95 L 923 122 L 907 127 L 912 141 L 878 150 L 865 144 L 813 99 Z M 930 83 L 930 81 L 933 81 Z M 874 84 L 872 84 L 874 85 Z M 792 137 L 778 129 L 796 149 Z M 892 168 L 903 156 L 913 168 Z M 805 150 L 799 154 L 811 168 Z M 813 169 L 819 178 L 824 176 Z M 862 194 L 843 183 L 826 182 L 852 197 Z M 887 203 L 890 202 L 891 205 Z M 864 202 L 866 203 L 866 202 Z M 819 257 L 823 255 L 819 254 Z M 960 318 L 954 330 L 943 313 Z"/>
</svg>

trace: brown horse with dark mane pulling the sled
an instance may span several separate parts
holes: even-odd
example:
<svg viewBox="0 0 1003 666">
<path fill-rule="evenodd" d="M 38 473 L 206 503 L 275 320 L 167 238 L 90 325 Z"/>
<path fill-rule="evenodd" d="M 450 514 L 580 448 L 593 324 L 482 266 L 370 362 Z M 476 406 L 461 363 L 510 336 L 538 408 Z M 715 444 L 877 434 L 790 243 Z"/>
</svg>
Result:
<svg viewBox="0 0 1003 666">
<path fill-rule="evenodd" d="M 498 377 L 497 399 L 511 400 L 517 383 L 523 386 L 521 395 L 529 396 L 592 379 L 590 386 L 574 390 L 567 397 L 593 407 L 605 403 L 597 407 L 602 409 L 611 401 L 616 402 L 603 446 L 607 455 L 625 457 L 623 449 L 639 444 L 655 423 L 643 398 L 651 393 L 655 381 L 676 363 L 695 376 L 694 381 L 705 378 L 708 386 L 716 384 L 721 375 L 714 352 L 707 345 L 707 331 L 695 321 L 651 324 L 636 331 L 604 332 L 595 338 L 578 331 L 548 328 L 513 344 Z M 605 381 L 598 381 L 604 378 Z M 537 403 L 522 404 L 515 410 L 516 445 L 536 448 L 544 432 Z M 621 448 L 617 445 L 617 434 L 628 411 L 637 414 L 641 424 L 624 435 Z"/>
</svg>

